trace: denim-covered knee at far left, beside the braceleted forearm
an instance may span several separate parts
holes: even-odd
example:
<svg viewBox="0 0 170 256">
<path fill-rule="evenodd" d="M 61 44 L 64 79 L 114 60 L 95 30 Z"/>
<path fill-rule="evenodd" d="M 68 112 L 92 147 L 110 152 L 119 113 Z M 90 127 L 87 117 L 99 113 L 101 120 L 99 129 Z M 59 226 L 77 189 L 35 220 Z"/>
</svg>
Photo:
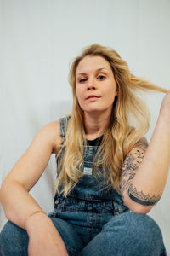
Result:
<svg viewBox="0 0 170 256">
<path fill-rule="evenodd" d="M 0 234 L 0 248 L 3 255 L 27 255 L 27 247 L 26 230 L 8 221 Z"/>
</svg>

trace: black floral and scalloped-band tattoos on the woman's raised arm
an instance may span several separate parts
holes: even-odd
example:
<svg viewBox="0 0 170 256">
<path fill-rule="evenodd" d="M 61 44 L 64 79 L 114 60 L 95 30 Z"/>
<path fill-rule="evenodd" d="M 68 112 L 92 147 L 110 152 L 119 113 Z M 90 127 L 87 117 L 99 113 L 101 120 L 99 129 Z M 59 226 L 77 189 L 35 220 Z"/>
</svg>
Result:
<svg viewBox="0 0 170 256">
<path fill-rule="evenodd" d="M 138 149 L 134 153 L 127 154 L 122 166 L 122 199 L 124 199 L 127 193 L 131 200 L 144 206 L 154 205 L 161 198 L 161 195 L 144 195 L 143 191 L 137 191 L 132 184 L 133 177 L 144 159 L 144 153 L 147 147 L 148 143 L 145 138 L 139 140 L 135 145 L 135 148 Z"/>
</svg>

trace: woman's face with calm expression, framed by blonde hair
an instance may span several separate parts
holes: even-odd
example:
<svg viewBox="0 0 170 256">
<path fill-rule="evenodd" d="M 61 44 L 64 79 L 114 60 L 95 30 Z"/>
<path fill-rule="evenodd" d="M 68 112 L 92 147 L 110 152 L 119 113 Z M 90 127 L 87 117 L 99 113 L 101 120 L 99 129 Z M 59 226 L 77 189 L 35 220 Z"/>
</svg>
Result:
<svg viewBox="0 0 170 256">
<path fill-rule="evenodd" d="M 101 56 L 86 56 L 77 66 L 77 100 L 85 113 L 111 113 L 117 95 L 111 66 Z"/>
</svg>

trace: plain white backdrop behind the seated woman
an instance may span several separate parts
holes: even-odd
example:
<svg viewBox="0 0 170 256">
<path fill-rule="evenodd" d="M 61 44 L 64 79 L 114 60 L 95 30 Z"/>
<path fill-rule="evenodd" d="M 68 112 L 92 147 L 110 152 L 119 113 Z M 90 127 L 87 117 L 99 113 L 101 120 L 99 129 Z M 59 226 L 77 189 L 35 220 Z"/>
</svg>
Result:
<svg viewBox="0 0 170 256">
<path fill-rule="evenodd" d="M 116 49 L 130 70 L 170 89 L 169 0 L 0 0 L 0 184 L 36 132 L 71 113 L 71 58 L 88 44 Z M 162 94 L 150 94 L 150 140 Z M 54 157 L 31 190 L 53 209 Z M 170 255 L 170 178 L 150 212 Z M 53 188 L 53 189 L 51 189 Z M 0 228 L 3 208 L 0 207 Z"/>
</svg>

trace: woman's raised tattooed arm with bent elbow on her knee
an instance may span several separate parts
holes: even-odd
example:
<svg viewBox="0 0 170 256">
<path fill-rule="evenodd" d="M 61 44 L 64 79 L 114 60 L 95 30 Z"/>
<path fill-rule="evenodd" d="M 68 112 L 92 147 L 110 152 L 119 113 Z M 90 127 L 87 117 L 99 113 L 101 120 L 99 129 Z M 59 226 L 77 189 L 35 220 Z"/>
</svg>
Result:
<svg viewBox="0 0 170 256">
<path fill-rule="evenodd" d="M 170 90 L 161 103 L 149 146 L 143 138 L 122 166 L 122 198 L 132 211 L 150 212 L 160 200 L 170 166 Z"/>
</svg>

